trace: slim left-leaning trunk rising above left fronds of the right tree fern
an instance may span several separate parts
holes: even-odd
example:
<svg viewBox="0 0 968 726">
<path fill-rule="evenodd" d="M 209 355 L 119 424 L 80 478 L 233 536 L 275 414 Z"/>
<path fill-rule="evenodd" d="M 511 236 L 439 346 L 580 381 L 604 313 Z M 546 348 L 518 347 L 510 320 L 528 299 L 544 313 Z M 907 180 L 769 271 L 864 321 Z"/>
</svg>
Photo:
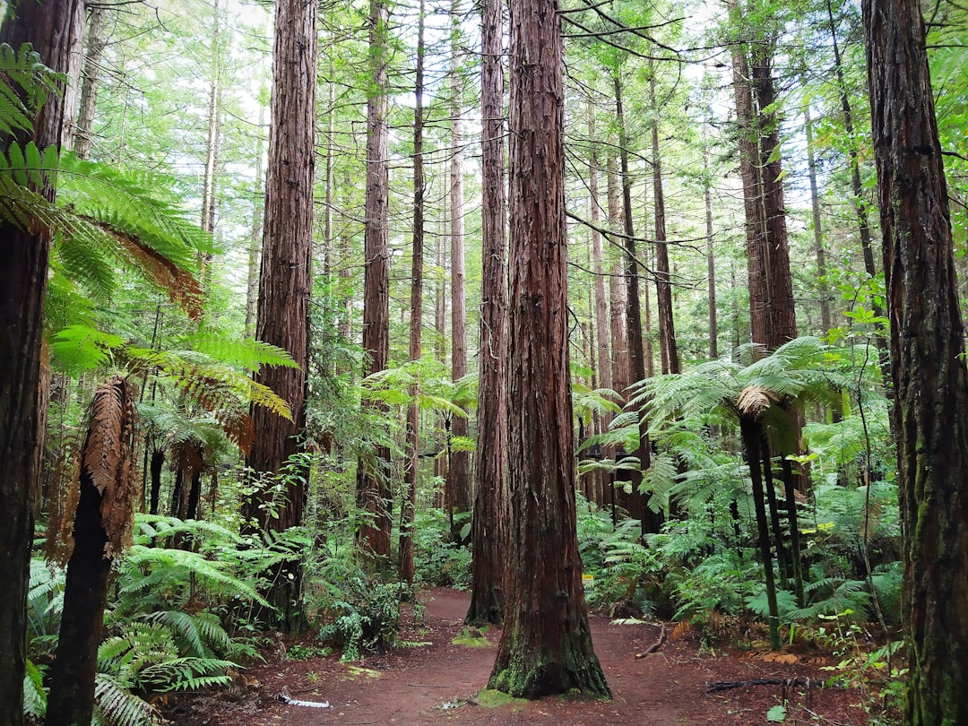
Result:
<svg viewBox="0 0 968 726">
<path fill-rule="evenodd" d="M 655 299 L 659 314 L 659 354 L 662 373 L 679 374 L 679 348 L 673 317 L 672 280 L 669 275 L 669 247 L 665 231 L 665 192 L 662 189 L 662 156 L 659 153 L 659 108 L 655 100 L 655 72 L 649 62 L 649 101 L 652 109 L 652 202 L 655 209 Z"/>
</svg>

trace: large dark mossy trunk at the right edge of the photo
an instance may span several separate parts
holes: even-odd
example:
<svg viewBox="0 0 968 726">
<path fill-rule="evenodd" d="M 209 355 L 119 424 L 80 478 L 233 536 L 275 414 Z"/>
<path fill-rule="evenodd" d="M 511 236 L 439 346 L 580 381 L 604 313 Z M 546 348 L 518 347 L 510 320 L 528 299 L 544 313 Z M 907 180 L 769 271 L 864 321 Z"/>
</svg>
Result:
<svg viewBox="0 0 968 726">
<path fill-rule="evenodd" d="M 968 722 L 968 370 L 916 0 L 862 3 L 888 281 L 904 546 L 904 723 Z"/>
</svg>

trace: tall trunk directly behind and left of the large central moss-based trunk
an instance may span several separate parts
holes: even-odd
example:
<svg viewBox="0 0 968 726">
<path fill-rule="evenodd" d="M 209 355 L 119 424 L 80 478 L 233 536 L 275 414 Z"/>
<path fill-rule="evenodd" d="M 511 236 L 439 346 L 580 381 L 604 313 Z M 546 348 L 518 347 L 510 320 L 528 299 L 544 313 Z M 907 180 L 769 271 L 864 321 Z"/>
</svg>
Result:
<svg viewBox="0 0 968 726">
<path fill-rule="evenodd" d="M 501 62 L 501 0 L 485 0 L 481 17 L 481 153 L 484 204 L 481 211 L 481 337 L 477 363 L 477 449 L 474 456 L 473 560 L 467 620 L 504 617 L 504 512 L 507 408 L 504 366 L 507 313 L 504 233 L 504 69 Z"/>
</svg>

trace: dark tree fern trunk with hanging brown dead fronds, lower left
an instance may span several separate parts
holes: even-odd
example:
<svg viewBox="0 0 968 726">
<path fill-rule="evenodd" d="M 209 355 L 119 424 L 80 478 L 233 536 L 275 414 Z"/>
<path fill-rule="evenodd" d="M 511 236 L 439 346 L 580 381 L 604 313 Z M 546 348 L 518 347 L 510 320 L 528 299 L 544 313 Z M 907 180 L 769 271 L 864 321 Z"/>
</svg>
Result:
<svg viewBox="0 0 968 726">
<path fill-rule="evenodd" d="M 94 710 L 111 560 L 121 554 L 135 512 L 135 405 L 125 378 L 111 378 L 95 393 L 80 462 L 48 726 L 86 726 Z"/>
</svg>

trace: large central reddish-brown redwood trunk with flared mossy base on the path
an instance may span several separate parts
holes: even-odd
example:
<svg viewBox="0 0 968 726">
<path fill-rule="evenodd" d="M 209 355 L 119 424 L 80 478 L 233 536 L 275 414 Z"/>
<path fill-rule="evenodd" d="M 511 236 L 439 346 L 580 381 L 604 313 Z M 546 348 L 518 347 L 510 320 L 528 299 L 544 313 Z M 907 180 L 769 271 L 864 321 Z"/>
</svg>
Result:
<svg viewBox="0 0 968 726">
<path fill-rule="evenodd" d="M 575 525 L 564 89 L 554 0 L 512 0 L 505 622 L 489 686 L 609 696 L 591 647 Z"/>
</svg>

